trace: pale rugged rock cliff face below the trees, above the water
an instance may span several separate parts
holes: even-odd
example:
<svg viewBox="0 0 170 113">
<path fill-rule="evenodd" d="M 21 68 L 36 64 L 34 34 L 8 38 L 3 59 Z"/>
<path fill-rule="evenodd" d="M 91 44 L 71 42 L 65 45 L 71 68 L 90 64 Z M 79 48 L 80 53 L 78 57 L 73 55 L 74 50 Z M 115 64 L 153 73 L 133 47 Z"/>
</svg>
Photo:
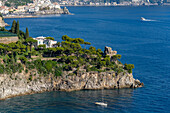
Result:
<svg viewBox="0 0 170 113">
<path fill-rule="evenodd" d="M 31 76 L 26 73 L 12 75 L 0 75 L 0 99 L 6 99 L 19 95 L 40 93 L 44 91 L 74 91 L 82 89 L 103 88 L 136 88 L 143 83 L 135 80 L 128 73 L 116 74 L 114 72 L 86 72 L 73 76 L 43 77 L 38 73 Z"/>
</svg>

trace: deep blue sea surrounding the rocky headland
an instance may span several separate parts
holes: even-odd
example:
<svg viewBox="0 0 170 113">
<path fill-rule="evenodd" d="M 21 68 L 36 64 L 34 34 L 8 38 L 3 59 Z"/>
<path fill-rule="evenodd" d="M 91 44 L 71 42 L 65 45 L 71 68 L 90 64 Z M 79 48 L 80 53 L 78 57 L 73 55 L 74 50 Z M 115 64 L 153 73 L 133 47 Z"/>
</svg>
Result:
<svg viewBox="0 0 170 113">
<path fill-rule="evenodd" d="M 169 113 L 170 7 L 68 7 L 74 15 L 15 19 L 32 37 L 83 38 L 104 50 L 110 46 L 122 63 L 135 65 L 137 89 L 45 92 L 0 101 L 0 112 Z M 141 21 L 144 17 L 151 21 Z M 5 19 L 12 24 L 14 19 Z M 7 27 L 9 29 L 9 27 Z M 94 105 L 103 100 L 107 107 Z"/>
</svg>

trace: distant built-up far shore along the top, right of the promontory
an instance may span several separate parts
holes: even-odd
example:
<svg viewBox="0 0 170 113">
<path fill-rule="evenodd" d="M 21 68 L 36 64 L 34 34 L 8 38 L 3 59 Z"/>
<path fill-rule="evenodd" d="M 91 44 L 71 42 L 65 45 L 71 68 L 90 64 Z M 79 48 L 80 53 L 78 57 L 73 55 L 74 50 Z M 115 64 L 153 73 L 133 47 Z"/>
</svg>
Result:
<svg viewBox="0 0 170 113">
<path fill-rule="evenodd" d="M 170 0 L 52 0 L 61 6 L 170 5 Z"/>
</svg>

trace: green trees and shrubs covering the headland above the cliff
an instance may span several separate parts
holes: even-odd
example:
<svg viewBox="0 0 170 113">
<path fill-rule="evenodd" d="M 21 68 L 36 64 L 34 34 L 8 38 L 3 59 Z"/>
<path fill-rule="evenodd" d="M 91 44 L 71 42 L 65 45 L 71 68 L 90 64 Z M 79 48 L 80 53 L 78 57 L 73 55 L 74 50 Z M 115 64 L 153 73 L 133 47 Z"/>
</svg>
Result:
<svg viewBox="0 0 170 113">
<path fill-rule="evenodd" d="M 62 36 L 62 42 L 58 42 L 56 47 L 46 48 L 45 45 L 39 45 L 34 48 L 37 41 L 29 37 L 28 28 L 26 33 L 19 30 L 19 22 L 14 21 L 9 32 L 16 33 L 19 41 L 16 43 L 0 43 L 0 74 L 29 72 L 36 70 L 39 74 L 47 76 L 50 74 L 61 76 L 63 71 L 72 71 L 77 74 L 80 71 L 115 71 L 121 73 L 127 70 L 132 73 L 133 64 L 122 64 L 119 59 L 121 55 L 112 57 L 105 55 L 101 49 L 90 46 L 81 38 L 70 38 L 67 35 Z M 47 37 L 54 40 L 53 37 Z M 86 49 L 88 46 L 88 49 Z M 32 58 L 32 56 L 38 56 Z M 48 58 L 53 60 L 48 60 Z M 73 75 L 72 74 L 72 75 Z M 30 76 L 32 80 L 32 76 Z"/>
</svg>

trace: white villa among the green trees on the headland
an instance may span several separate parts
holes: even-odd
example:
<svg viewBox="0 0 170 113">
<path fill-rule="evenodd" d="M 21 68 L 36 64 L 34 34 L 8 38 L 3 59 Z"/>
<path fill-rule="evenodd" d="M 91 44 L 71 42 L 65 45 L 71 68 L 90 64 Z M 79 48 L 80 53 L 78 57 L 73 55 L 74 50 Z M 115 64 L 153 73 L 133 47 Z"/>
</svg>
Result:
<svg viewBox="0 0 170 113">
<path fill-rule="evenodd" d="M 57 44 L 57 41 L 46 39 L 46 37 L 43 37 L 43 36 L 39 36 L 37 38 L 34 38 L 34 40 L 37 40 L 35 47 L 45 44 L 46 48 L 51 48 L 51 47 L 55 47 L 55 44 Z"/>
</svg>

